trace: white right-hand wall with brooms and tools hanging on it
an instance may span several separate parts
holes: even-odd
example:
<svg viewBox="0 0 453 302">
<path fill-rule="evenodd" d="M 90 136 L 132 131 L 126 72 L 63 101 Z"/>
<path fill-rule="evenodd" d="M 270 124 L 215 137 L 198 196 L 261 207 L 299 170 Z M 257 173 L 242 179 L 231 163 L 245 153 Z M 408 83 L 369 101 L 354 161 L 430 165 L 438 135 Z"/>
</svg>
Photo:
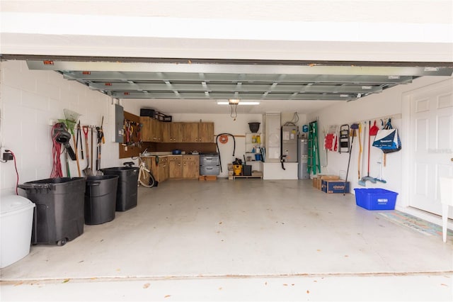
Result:
<svg viewBox="0 0 453 302">
<path fill-rule="evenodd" d="M 407 130 L 401 128 L 403 121 L 407 116 L 402 114 L 402 95 L 407 91 L 413 89 L 418 89 L 423 86 L 428 86 L 437 82 L 445 81 L 449 77 L 421 77 L 415 79 L 412 84 L 408 85 L 399 85 L 391 89 L 384 90 L 381 94 L 374 94 L 367 96 L 363 99 L 357 101 L 345 102 L 335 106 L 330 106 L 328 108 L 323 108 L 320 111 L 309 114 L 307 119 L 309 121 L 319 121 L 319 146 L 320 152 L 323 151 L 323 135 L 322 131 L 328 129 L 328 125 L 342 125 L 357 123 L 361 121 L 372 121 L 376 118 L 389 117 L 389 116 L 398 116 L 401 115 L 401 118 L 392 119 L 392 125 L 394 128 L 398 128 L 398 132 L 401 137 L 401 145 L 403 150 L 399 152 L 394 152 L 387 154 L 386 156 L 386 167 L 383 168 L 382 178 L 386 180 L 386 184 L 377 182 L 372 184 L 370 181 L 366 181 L 366 187 L 379 187 L 382 189 L 388 189 L 391 191 L 398 192 L 400 194 L 396 199 L 396 207 L 406 207 L 407 204 L 402 201 L 405 199 L 402 194 L 402 186 L 404 179 L 408 179 L 408 175 L 403 171 L 402 167 L 402 158 L 404 152 L 410 152 L 410 150 L 404 150 L 405 137 L 408 135 Z M 380 121 L 378 120 L 378 125 Z M 369 128 L 367 128 L 368 132 Z M 362 130 L 363 135 L 363 130 Z M 373 139 L 373 137 L 372 137 Z M 351 161 L 350 169 L 348 174 L 348 180 L 351 181 L 351 190 L 354 193 L 354 188 L 365 188 L 365 186 L 360 186 L 358 184 L 357 177 L 357 158 L 359 152 L 359 145 L 357 138 L 352 145 L 351 152 Z M 377 147 L 371 147 L 370 149 L 370 172 L 369 175 L 372 177 L 379 177 L 379 164 L 377 162 L 380 160 L 381 150 Z M 362 156 L 365 156 L 364 160 L 367 160 L 367 146 L 364 147 Z M 338 175 L 341 170 L 346 171 L 348 167 L 348 157 L 349 153 L 338 153 L 338 152 L 328 152 L 327 162 L 325 167 L 321 167 L 322 174 L 336 174 Z M 322 164 L 322 162 L 321 162 Z M 365 172 L 365 174 L 364 174 Z M 365 163 L 365 169 L 362 170 L 362 175 L 367 175 L 367 166 Z"/>
</svg>

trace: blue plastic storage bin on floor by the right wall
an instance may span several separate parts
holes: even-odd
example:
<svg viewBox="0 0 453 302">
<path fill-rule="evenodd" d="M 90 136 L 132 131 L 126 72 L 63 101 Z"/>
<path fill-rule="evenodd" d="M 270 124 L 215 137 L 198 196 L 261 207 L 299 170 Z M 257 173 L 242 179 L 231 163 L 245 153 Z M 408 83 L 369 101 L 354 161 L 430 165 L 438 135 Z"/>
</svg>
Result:
<svg viewBox="0 0 453 302">
<path fill-rule="evenodd" d="M 367 210 L 394 210 L 398 193 L 386 189 L 354 189 L 355 203 Z"/>
</svg>

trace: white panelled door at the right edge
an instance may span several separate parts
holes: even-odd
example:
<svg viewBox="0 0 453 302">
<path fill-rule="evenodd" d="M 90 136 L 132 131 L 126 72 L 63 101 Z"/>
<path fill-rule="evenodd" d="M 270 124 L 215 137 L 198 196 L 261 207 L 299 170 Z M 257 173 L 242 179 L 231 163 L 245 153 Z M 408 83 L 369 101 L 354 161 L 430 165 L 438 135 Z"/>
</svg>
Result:
<svg viewBox="0 0 453 302">
<path fill-rule="evenodd" d="M 453 176 L 453 79 L 411 91 L 409 97 L 408 147 L 413 150 L 409 205 L 442 215 L 439 177 Z"/>
</svg>

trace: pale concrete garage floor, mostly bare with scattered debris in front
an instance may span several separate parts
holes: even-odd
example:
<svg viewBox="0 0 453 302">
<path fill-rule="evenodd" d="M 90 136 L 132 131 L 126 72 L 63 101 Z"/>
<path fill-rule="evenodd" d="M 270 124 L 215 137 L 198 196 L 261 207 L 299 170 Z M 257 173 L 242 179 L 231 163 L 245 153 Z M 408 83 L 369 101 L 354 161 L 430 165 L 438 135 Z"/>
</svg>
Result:
<svg viewBox="0 0 453 302">
<path fill-rule="evenodd" d="M 311 181 L 165 181 L 138 206 L 35 245 L 1 301 L 452 301 L 453 239 Z"/>
</svg>

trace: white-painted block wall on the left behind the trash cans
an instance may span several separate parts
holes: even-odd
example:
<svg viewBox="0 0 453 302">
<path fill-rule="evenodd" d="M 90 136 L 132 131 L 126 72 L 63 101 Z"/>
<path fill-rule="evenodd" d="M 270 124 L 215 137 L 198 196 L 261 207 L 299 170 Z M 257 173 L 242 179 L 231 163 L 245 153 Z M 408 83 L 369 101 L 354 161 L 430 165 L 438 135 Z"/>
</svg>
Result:
<svg viewBox="0 0 453 302">
<path fill-rule="evenodd" d="M 22 61 L 0 62 L 0 67 L 0 142 L 16 155 L 19 184 L 50 177 L 52 127 L 49 121 L 64 118 L 64 108 L 80 113 L 81 125 L 101 125 L 104 116 L 103 129 L 111 130 L 108 96 L 63 79 L 57 72 L 30 71 Z M 116 167 L 121 164 L 117 144 L 105 138 L 101 167 Z M 96 143 L 96 134 L 94 141 Z M 78 176 L 76 162 L 70 161 L 70 165 L 71 176 Z M 85 167 L 86 164 L 81 163 L 81 169 Z M 63 173 L 66 175 L 64 167 Z M 0 164 L 0 177 L 0 194 L 15 194 L 13 161 Z M 21 194 L 22 190 L 18 191 Z"/>
</svg>

